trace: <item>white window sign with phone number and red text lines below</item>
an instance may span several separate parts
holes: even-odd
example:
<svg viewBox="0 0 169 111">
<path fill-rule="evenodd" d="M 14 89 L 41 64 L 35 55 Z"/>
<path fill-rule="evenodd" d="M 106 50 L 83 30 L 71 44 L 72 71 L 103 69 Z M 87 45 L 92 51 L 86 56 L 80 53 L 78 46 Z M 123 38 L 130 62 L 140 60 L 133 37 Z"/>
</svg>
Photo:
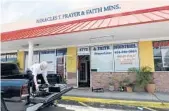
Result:
<svg viewBox="0 0 169 111">
<path fill-rule="evenodd" d="M 118 44 L 114 45 L 115 71 L 127 71 L 129 68 L 139 67 L 138 45 Z"/>
</svg>

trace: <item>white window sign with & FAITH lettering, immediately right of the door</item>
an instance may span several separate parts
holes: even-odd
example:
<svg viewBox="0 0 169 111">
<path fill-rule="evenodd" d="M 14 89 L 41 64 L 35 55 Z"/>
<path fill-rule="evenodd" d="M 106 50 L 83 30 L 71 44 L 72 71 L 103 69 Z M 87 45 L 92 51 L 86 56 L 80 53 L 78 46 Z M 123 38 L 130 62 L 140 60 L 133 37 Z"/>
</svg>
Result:
<svg viewBox="0 0 169 111">
<path fill-rule="evenodd" d="M 91 70 L 97 72 L 113 72 L 112 45 L 94 46 L 91 48 Z"/>
</svg>

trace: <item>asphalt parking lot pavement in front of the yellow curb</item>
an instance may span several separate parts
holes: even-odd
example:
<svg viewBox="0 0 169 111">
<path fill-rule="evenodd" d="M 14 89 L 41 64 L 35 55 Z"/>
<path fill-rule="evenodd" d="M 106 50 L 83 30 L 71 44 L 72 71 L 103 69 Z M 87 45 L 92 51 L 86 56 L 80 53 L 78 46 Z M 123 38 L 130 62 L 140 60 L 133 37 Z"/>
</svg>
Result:
<svg viewBox="0 0 169 111">
<path fill-rule="evenodd" d="M 17 110 L 23 107 L 21 104 L 8 104 L 9 111 L 25 111 Z M 100 104 L 100 103 L 83 103 L 76 101 L 57 101 L 57 107 L 47 107 L 40 111 L 169 111 L 169 109 L 153 109 L 147 107 L 135 107 L 124 105 Z"/>
</svg>

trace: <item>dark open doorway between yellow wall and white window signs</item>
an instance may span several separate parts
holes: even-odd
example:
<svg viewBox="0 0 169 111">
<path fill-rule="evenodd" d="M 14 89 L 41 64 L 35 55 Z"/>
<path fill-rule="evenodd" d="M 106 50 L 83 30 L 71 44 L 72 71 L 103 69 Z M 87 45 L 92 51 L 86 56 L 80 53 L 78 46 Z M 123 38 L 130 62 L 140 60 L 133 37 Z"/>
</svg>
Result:
<svg viewBox="0 0 169 111">
<path fill-rule="evenodd" d="M 90 87 L 90 56 L 78 56 L 78 85 L 79 87 Z"/>
</svg>

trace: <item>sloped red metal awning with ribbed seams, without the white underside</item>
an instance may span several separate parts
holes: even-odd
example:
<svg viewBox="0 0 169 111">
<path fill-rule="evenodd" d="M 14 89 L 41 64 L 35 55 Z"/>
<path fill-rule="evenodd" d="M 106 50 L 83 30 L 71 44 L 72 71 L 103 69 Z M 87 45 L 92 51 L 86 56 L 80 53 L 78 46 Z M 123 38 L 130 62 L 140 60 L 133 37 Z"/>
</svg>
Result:
<svg viewBox="0 0 169 111">
<path fill-rule="evenodd" d="M 44 36 L 47 37 L 50 35 L 59 35 L 162 21 L 169 21 L 169 6 L 136 10 L 132 12 L 111 14 L 94 18 L 75 20 L 71 22 L 4 32 L 1 34 L 1 41 L 5 42 Z"/>
</svg>

